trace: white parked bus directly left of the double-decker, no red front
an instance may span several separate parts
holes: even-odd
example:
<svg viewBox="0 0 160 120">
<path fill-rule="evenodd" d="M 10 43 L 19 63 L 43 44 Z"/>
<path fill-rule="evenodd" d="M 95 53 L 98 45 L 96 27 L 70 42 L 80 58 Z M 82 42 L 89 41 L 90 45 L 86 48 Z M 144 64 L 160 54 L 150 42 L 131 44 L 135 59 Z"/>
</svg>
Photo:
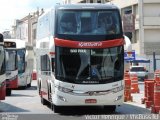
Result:
<svg viewBox="0 0 160 120">
<path fill-rule="evenodd" d="M 20 57 L 18 61 L 18 86 L 30 87 L 32 82 L 32 71 L 34 53 L 33 47 L 27 45 L 25 41 L 16 39 L 17 54 Z"/>
</svg>

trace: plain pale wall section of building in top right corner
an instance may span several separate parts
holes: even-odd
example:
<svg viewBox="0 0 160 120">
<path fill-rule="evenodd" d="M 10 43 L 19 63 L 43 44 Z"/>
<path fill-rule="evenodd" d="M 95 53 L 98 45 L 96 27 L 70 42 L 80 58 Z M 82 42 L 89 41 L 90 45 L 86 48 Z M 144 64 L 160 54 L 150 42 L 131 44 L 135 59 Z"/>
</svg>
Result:
<svg viewBox="0 0 160 120">
<path fill-rule="evenodd" d="M 144 53 L 160 55 L 160 0 L 143 2 Z"/>
</svg>

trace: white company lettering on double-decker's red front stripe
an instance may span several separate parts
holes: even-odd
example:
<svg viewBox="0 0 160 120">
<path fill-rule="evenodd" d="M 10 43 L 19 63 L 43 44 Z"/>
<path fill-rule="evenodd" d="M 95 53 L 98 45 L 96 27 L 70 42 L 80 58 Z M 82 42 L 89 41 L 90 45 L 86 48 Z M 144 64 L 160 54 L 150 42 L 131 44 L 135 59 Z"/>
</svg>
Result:
<svg viewBox="0 0 160 120">
<path fill-rule="evenodd" d="M 102 42 L 80 42 L 78 45 L 80 47 L 100 47 Z"/>
</svg>

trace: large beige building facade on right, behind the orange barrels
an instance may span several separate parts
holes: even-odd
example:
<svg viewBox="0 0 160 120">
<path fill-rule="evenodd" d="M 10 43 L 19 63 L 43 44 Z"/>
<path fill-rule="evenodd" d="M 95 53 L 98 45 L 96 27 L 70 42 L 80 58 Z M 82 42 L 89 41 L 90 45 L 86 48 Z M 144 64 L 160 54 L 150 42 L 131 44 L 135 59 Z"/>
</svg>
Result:
<svg viewBox="0 0 160 120">
<path fill-rule="evenodd" d="M 150 59 L 145 64 L 150 72 L 160 69 L 160 0 L 113 0 L 119 6 L 121 15 L 135 16 L 135 31 L 131 36 L 132 49 L 137 56 Z M 155 53 L 155 59 L 153 58 Z"/>
</svg>

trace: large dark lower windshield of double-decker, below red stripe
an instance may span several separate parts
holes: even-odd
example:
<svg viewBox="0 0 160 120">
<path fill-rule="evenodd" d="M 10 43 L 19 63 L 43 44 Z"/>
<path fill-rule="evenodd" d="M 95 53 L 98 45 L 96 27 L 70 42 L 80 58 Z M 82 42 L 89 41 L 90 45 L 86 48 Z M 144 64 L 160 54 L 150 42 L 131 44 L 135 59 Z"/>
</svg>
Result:
<svg viewBox="0 0 160 120">
<path fill-rule="evenodd" d="M 123 79 L 123 47 L 73 49 L 56 47 L 56 79 L 104 84 Z"/>
</svg>

